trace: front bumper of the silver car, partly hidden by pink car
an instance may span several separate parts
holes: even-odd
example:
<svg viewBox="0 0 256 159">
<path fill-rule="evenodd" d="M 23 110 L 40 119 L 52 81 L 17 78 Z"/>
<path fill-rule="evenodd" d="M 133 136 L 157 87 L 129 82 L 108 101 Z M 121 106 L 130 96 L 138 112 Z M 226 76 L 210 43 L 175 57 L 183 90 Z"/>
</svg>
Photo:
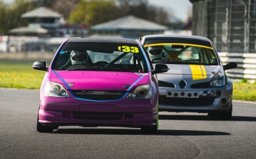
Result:
<svg viewBox="0 0 256 159">
<path fill-rule="evenodd" d="M 197 98 L 168 96 L 167 92 L 198 92 Z M 175 88 L 159 88 L 159 111 L 168 112 L 193 112 L 193 113 L 217 113 L 228 112 L 232 105 L 232 87 L 202 88 L 197 90 L 175 90 Z"/>
</svg>

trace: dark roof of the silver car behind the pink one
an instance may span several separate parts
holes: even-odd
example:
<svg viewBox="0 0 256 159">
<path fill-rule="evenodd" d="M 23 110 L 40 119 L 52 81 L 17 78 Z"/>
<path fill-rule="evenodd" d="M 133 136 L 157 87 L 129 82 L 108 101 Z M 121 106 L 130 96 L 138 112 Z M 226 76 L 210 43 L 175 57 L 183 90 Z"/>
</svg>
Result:
<svg viewBox="0 0 256 159">
<path fill-rule="evenodd" d="M 188 35 L 172 35 L 172 34 L 154 34 L 146 35 L 141 40 L 143 45 L 155 43 L 187 43 L 187 44 L 202 44 L 211 46 L 212 42 L 209 38 L 202 36 L 188 36 Z"/>
</svg>

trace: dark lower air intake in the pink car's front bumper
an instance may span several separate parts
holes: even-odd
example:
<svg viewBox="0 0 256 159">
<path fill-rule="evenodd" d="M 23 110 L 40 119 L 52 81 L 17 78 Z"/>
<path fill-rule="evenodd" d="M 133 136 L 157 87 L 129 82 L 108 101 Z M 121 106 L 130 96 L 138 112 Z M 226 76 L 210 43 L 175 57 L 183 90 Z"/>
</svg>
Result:
<svg viewBox="0 0 256 159">
<path fill-rule="evenodd" d="M 109 112 L 72 112 L 74 119 L 83 120 L 98 120 L 98 121 L 110 121 L 121 120 L 123 113 L 109 113 Z"/>
</svg>

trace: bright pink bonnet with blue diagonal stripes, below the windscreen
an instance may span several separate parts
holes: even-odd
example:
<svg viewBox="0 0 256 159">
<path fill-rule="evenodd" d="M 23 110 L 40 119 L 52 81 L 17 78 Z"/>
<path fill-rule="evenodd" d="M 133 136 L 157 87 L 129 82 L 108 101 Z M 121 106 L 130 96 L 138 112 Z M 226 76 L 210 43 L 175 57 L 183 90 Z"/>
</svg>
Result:
<svg viewBox="0 0 256 159">
<path fill-rule="evenodd" d="M 148 84 L 148 73 L 116 71 L 52 71 L 51 82 L 58 82 L 70 90 L 129 91 Z"/>
</svg>

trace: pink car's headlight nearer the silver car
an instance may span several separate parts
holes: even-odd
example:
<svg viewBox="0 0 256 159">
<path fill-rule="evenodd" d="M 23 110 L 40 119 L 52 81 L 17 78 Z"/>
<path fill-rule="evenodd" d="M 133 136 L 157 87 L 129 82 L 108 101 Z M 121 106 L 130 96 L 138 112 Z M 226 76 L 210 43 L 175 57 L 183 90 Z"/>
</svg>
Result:
<svg viewBox="0 0 256 159">
<path fill-rule="evenodd" d="M 137 86 L 127 96 L 127 99 L 151 99 L 152 87 L 150 84 Z"/>
</svg>

